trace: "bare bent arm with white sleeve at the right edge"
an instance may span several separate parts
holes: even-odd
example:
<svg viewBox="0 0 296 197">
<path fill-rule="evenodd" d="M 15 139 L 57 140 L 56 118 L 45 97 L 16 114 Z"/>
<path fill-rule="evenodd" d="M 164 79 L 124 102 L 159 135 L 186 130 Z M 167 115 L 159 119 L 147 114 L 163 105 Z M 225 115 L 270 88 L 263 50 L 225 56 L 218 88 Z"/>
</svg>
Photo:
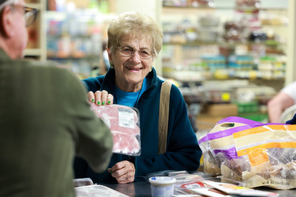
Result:
<svg viewBox="0 0 296 197">
<path fill-rule="evenodd" d="M 295 104 L 296 82 L 282 89 L 274 98 L 268 101 L 267 110 L 269 122 L 278 123 L 283 111 Z"/>
</svg>

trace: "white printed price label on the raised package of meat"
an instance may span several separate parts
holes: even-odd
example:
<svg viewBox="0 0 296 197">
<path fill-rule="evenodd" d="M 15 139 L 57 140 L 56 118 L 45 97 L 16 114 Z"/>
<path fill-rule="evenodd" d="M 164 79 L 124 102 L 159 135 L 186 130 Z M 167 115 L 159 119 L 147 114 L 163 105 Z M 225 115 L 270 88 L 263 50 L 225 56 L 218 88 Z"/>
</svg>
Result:
<svg viewBox="0 0 296 197">
<path fill-rule="evenodd" d="M 133 110 L 118 108 L 119 126 L 126 128 L 135 128 Z"/>
</svg>

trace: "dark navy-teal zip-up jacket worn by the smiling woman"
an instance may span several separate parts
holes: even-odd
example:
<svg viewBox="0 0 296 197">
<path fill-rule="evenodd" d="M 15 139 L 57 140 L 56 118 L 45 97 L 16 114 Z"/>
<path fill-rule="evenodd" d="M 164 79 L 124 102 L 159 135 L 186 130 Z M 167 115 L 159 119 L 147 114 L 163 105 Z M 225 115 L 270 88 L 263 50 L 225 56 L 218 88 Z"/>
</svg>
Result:
<svg viewBox="0 0 296 197">
<path fill-rule="evenodd" d="M 170 91 L 166 152 L 158 155 L 159 99 L 163 81 L 156 76 L 154 68 L 146 77 L 150 79 L 150 87 L 139 98 L 141 155 L 135 158 L 135 181 L 144 180 L 139 176 L 160 170 L 197 170 L 202 152 L 190 125 L 185 101 L 175 85 Z M 115 71 L 109 69 L 106 75 L 84 79 L 83 82 L 88 91 L 106 90 L 112 94 Z M 113 154 L 109 168 L 123 160 L 128 160 L 128 156 Z M 75 159 L 74 168 L 76 178 L 89 177 L 94 183 L 117 183 L 107 170 L 95 173 L 80 158 Z"/>
</svg>

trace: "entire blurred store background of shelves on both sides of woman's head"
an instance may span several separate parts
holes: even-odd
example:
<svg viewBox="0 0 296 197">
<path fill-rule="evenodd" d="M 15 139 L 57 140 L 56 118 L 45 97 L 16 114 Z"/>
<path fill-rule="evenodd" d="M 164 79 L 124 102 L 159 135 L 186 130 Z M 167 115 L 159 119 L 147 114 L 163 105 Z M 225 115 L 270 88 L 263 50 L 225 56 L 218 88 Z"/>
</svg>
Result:
<svg viewBox="0 0 296 197">
<path fill-rule="evenodd" d="M 198 135 L 230 115 L 268 122 L 267 101 L 292 80 L 290 1 L 30 0 L 39 19 L 28 30 L 25 54 L 56 62 L 80 79 L 104 74 L 109 21 L 138 11 L 163 29 L 153 66 L 178 84 Z"/>
</svg>

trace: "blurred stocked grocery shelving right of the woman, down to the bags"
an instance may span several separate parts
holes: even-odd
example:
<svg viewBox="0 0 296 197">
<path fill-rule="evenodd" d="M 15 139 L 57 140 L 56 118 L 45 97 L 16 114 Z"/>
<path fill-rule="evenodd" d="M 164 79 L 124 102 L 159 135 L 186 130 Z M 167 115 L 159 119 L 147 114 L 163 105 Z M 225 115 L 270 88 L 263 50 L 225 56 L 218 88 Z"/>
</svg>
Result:
<svg viewBox="0 0 296 197">
<path fill-rule="evenodd" d="M 285 82 L 289 21 L 287 7 L 265 5 L 163 0 L 163 76 L 179 82 L 189 114 L 198 105 L 199 130 L 227 116 L 268 122 L 267 101 Z"/>
</svg>

